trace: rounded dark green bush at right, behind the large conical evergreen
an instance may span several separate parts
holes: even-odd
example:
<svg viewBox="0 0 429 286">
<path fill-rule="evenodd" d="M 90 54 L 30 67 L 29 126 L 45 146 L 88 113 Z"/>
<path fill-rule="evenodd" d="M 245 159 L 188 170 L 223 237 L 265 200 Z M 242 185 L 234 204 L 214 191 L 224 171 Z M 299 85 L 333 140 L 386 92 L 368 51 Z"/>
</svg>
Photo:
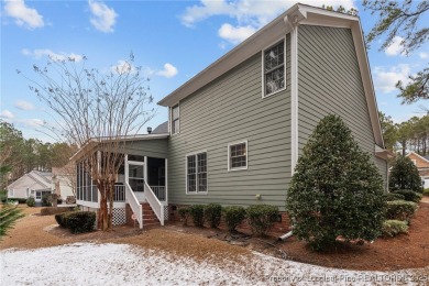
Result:
<svg viewBox="0 0 429 286">
<path fill-rule="evenodd" d="M 421 193 L 421 178 L 417 166 L 409 157 L 397 155 L 392 166 L 388 185 L 391 189 L 410 189 Z"/>
</svg>

